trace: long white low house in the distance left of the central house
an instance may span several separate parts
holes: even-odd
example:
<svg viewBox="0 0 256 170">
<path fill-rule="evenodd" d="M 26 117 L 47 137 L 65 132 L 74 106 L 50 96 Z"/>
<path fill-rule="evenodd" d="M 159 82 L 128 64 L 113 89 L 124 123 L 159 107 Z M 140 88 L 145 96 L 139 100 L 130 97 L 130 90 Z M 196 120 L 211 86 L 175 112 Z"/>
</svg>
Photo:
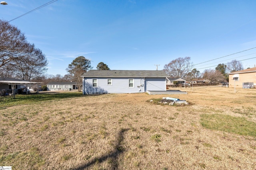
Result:
<svg viewBox="0 0 256 170">
<path fill-rule="evenodd" d="M 76 82 L 49 82 L 47 90 L 77 90 Z"/>
</svg>

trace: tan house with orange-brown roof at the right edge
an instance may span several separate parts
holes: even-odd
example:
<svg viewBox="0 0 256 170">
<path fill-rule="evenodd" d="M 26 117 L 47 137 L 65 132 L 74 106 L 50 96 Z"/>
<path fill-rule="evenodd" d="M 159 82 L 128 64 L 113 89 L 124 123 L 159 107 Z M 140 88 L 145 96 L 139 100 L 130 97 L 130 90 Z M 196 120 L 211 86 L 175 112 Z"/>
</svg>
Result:
<svg viewBox="0 0 256 170">
<path fill-rule="evenodd" d="M 252 88 L 256 86 L 256 67 L 229 73 L 230 88 Z"/>
</svg>

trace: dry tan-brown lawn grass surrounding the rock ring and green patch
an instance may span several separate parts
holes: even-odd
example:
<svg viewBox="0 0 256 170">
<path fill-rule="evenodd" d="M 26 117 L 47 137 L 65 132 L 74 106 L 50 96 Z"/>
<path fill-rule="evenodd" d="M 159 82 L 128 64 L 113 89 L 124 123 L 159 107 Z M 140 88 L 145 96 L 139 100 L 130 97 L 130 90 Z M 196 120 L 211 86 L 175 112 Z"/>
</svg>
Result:
<svg viewBox="0 0 256 170">
<path fill-rule="evenodd" d="M 0 114 L 0 166 L 18 169 L 256 169 L 256 137 L 210 130 L 200 115 L 256 123 L 256 89 L 187 95 L 105 94 L 13 106 Z M 161 106 L 175 97 L 190 106 Z"/>
</svg>

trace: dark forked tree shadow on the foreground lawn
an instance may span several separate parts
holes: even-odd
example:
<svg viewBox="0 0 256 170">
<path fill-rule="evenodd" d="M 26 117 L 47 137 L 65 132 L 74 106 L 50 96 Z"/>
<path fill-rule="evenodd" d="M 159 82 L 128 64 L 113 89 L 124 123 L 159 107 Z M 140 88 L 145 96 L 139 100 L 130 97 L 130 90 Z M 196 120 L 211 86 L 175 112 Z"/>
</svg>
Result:
<svg viewBox="0 0 256 170">
<path fill-rule="evenodd" d="M 121 129 L 117 135 L 117 144 L 115 146 L 115 149 L 112 152 L 109 152 L 108 154 L 102 155 L 98 158 L 94 158 L 90 162 L 80 165 L 77 168 L 73 168 L 73 170 L 84 170 L 86 168 L 89 168 L 90 166 L 98 163 L 102 163 L 108 159 L 111 160 L 111 170 L 118 169 L 118 156 L 124 152 L 124 148 L 121 146 L 122 141 L 124 140 L 124 132 L 128 131 L 129 129 Z"/>
</svg>

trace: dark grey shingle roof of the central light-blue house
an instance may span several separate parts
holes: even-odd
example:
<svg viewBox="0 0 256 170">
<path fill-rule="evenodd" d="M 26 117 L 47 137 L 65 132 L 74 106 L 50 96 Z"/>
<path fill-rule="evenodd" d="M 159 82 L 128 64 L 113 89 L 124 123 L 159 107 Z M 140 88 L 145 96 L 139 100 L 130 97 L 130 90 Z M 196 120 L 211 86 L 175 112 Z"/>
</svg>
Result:
<svg viewBox="0 0 256 170">
<path fill-rule="evenodd" d="M 89 70 L 82 77 L 168 77 L 163 70 Z"/>
</svg>

